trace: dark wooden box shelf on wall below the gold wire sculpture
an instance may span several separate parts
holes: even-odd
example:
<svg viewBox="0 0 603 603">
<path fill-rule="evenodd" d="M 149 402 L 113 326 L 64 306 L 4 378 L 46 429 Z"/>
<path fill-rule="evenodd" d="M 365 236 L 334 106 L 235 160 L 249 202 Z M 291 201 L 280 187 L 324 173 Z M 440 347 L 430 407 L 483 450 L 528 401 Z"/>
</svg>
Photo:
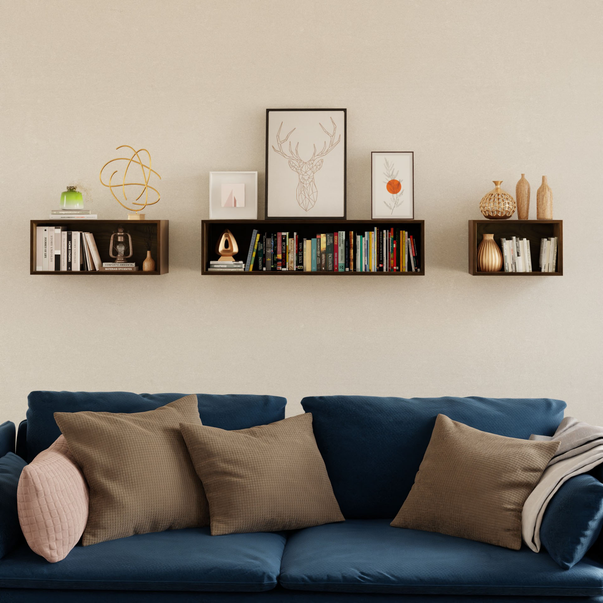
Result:
<svg viewBox="0 0 603 603">
<path fill-rule="evenodd" d="M 140 226 L 153 226 L 153 243 L 151 245 L 151 256 L 155 260 L 156 269 L 153 272 L 144 272 L 142 262 L 147 257 L 147 246 L 145 245 L 143 233 Z M 36 227 L 37 226 L 60 226 L 63 230 L 76 230 L 78 232 L 90 232 L 94 236 L 98 254 L 102 262 L 112 262 L 109 256 L 109 241 L 111 235 L 119 227 L 130 233 L 134 254 L 129 262 L 135 262 L 139 269 L 136 272 L 104 272 L 96 270 L 81 271 L 39 271 L 36 270 Z M 70 274 L 72 276 L 84 274 L 112 274 L 119 276 L 156 276 L 167 274 L 169 270 L 168 261 L 168 220 L 31 220 L 30 223 L 30 274 Z"/>
</svg>

